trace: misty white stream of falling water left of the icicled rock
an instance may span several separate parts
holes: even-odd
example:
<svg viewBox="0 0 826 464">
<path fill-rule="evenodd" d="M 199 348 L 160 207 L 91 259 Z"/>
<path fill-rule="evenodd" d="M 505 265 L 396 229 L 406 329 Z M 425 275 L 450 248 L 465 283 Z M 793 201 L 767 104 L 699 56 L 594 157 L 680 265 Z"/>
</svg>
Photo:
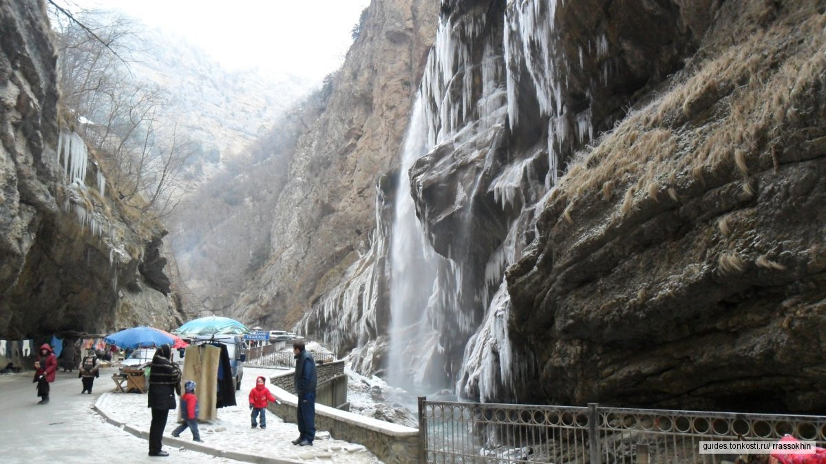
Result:
<svg viewBox="0 0 826 464">
<path fill-rule="evenodd" d="M 428 152 L 426 140 L 425 112 L 419 93 L 401 152 L 390 249 L 389 382 L 406 390 L 416 383 L 426 383 L 422 369 L 415 376 L 407 371 L 415 365 L 412 357 L 433 350 L 437 343 L 425 320 L 425 308 L 436 282 L 437 259 L 416 218 L 408 175 L 413 163 Z"/>
</svg>

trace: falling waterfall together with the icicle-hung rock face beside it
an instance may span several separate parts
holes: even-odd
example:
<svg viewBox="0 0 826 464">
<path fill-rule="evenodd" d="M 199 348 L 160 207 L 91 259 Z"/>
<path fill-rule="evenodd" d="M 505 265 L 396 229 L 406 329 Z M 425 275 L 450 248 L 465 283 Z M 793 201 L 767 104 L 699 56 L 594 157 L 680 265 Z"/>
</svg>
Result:
<svg viewBox="0 0 826 464">
<path fill-rule="evenodd" d="M 598 69 L 607 81 L 611 64 L 604 34 L 576 59 L 558 47 L 564 2 L 508 2 L 501 15 L 470 3 L 440 21 L 401 154 L 387 374 L 408 391 L 507 400 L 535 361 L 510 340 L 505 270 L 563 161 L 595 136 L 591 107 L 570 105 L 569 76 Z M 590 99 L 599 82 L 581 80 Z"/>
</svg>

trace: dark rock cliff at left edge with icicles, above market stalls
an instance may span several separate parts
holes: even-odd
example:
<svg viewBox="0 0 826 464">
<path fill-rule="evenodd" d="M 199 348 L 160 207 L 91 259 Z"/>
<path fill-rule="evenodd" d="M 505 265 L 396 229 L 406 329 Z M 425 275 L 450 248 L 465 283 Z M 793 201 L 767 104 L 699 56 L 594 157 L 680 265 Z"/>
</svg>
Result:
<svg viewBox="0 0 826 464">
<path fill-rule="evenodd" d="M 2 2 L 0 36 L 0 336 L 176 327 L 163 228 L 112 198 L 95 155 L 60 127 L 43 2 Z"/>
</svg>

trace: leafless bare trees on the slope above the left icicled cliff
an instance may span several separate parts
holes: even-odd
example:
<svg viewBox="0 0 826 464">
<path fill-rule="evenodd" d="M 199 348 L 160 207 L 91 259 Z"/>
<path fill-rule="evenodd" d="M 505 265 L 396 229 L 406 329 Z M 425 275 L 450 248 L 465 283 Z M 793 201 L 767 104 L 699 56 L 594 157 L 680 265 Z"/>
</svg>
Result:
<svg viewBox="0 0 826 464">
<path fill-rule="evenodd" d="M 63 104 L 75 129 L 97 149 L 123 199 L 140 196 L 144 212 L 169 215 L 190 189 L 184 170 L 197 146 L 166 115 L 166 92 L 129 71 L 126 59 L 140 53 L 129 45 L 131 22 L 88 12 L 78 19 L 50 4 L 68 18 L 53 21 Z"/>
</svg>

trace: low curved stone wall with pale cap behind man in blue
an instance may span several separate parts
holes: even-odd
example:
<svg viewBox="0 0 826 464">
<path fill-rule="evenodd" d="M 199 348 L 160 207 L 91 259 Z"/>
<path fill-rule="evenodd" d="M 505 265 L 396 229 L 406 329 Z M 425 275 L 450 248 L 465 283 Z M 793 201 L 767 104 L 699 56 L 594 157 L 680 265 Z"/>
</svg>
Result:
<svg viewBox="0 0 826 464">
<path fill-rule="evenodd" d="M 344 362 L 322 364 L 318 370 L 319 384 L 322 378 L 329 382 L 335 379 L 335 372 L 344 372 Z M 292 371 L 270 377 L 269 380 L 273 384 L 273 395 L 281 400 L 281 404 L 271 403 L 268 410 L 287 422 L 296 422 L 298 401 L 292 393 Z M 363 444 L 382 462 L 419 462 L 419 430 L 416 428 L 316 404 L 316 430 L 327 430 L 333 438 Z"/>
</svg>

